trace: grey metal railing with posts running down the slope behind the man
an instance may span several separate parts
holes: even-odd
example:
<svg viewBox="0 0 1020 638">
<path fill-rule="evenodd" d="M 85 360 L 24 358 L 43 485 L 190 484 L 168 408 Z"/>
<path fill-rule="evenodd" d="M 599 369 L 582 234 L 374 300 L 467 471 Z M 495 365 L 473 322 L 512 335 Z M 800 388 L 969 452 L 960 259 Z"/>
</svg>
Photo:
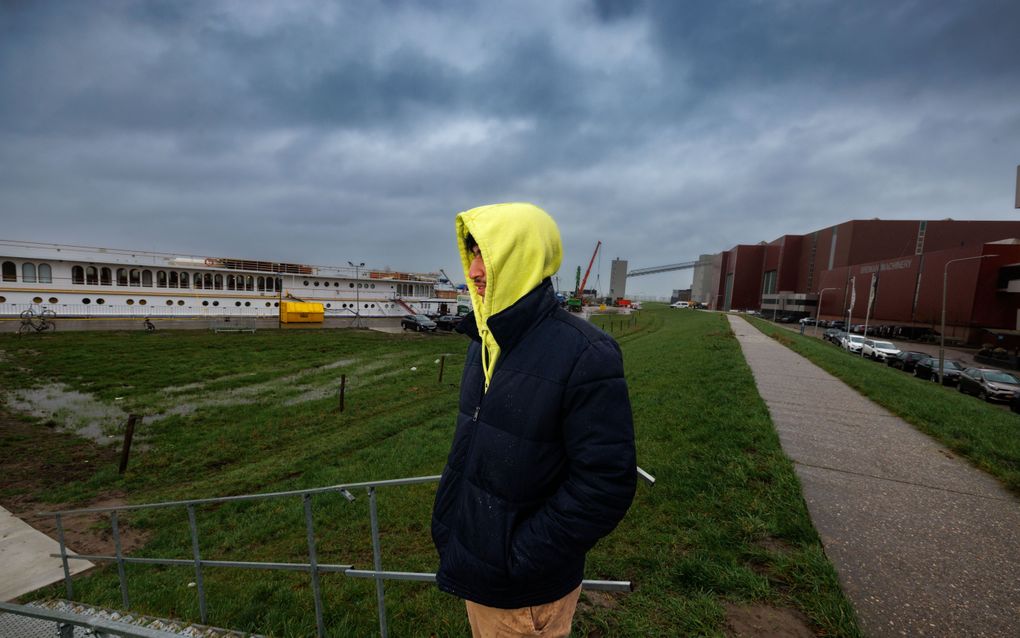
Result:
<svg viewBox="0 0 1020 638">
<path fill-rule="evenodd" d="M 649 484 L 654 485 L 655 479 L 649 475 L 647 472 L 638 469 L 639 476 L 647 481 Z M 386 588 L 384 587 L 384 581 L 396 580 L 396 581 L 421 581 L 427 583 L 436 582 L 436 574 L 432 573 L 422 573 L 422 572 L 388 572 L 382 570 L 382 550 L 379 541 L 379 525 L 378 525 L 378 509 L 376 505 L 375 490 L 380 487 L 396 487 L 396 486 L 406 486 L 406 485 L 418 485 L 422 483 L 434 483 L 439 481 L 441 475 L 425 476 L 425 477 L 412 477 L 406 479 L 392 479 L 386 481 L 369 481 L 362 483 L 347 483 L 342 485 L 333 485 L 328 487 L 311 488 L 305 490 L 292 490 L 286 492 L 268 492 L 263 494 L 242 494 L 239 496 L 221 496 L 216 498 L 197 498 L 191 500 L 176 500 L 176 501 L 165 501 L 159 503 L 145 503 L 139 505 L 120 505 L 115 507 L 90 507 L 83 509 L 63 509 L 60 511 L 41 511 L 38 512 L 39 517 L 53 517 L 56 522 L 57 530 L 57 542 L 60 545 L 60 553 L 50 554 L 52 557 L 59 557 L 63 565 L 64 574 L 64 587 L 66 589 L 66 595 L 68 600 L 74 599 L 74 588 L 70 578 L 70 570 L 68 568 L 68 560 L 92 560 L 94 562 L 115 562 L 117 566 L 117 576 L 120 583 L 120 598 L 123 604 L 123 608 L 126 610 L 131 608 L 131 601 L 128 595 L 128 577 L 125 575 L 124 566 L 126 565 L 158 565 L 158 566 L 192 566 L 195 569 L 195 585 L 198 593 L 199 602 L 199 615 L 201 617 L 202 623 L 206 624 L 208 622 L 207 608 L 206 608 L 206 595 L 205 595 L 205 585 L 202 580 L 203 570 L 205 568 L 235 568 L 235 569 L 247 569 L 247 570 L 280 570 L 280 571 L 295 571 L 295 572 L 306 572 L 311 578 L 312 586 L 312 596 L 314 597 L 315 604 L 315 627 L 316 635 L 322 638 L 325 635 L 325 625 L 322 620 L 322 592 L 319 582 L 319 576 L 322 573 L 335 573 L 343 574 L 350 578 L 363 578 L 372 579 L 375 581 L 375 596 L 376 604 L 378 606 L 378 622 L 379 622 L 379 634 L 382 638 L 387 638 L 389 635 L 387 629 L 387 611 L 386 611 Z M 371 537 L 372 537 L 372 563 L 373 569 L 371 570 L 355 570 L 352 565 L 332 565 L 332 563 L 320 563 L 318 561 L 316 553 L 316 543 L 315 543 L 315 529 L 312 522 L 312 496 L 315 494 L 323 493 L 340 493 L 348 501 L 353 502 L 355 500 L 352 490 L 364 489 L 368 494 L 368 509 L 371 522 Z M 308 562 L 258 562 L 258 561 L 242 561 L 242 560 L 209 560 L 202 557 L 201 544 L 199 542 L 198 525 L 195 520 L 195 508 L 199 505 L 207 505 L 211 503 L 225 503 L 233 501 L 250 501 L 250 500 L 262 500 L 269 498 L 283 498 L 283 497 L 293 497 L 300 496 L 304 501 L 304 518 L 305 518 L 305 531 L 308 539 Z M 166 507 L 184 507 L 188 511 L 188 527 L 191 533 L 191 544 L 192 544 L 192 558 L 138 558 L 138 557 L 128 557 L 123 555 L 123 550 L 121 548 L 120 542 L 120 531 L 117 525 L 117 513 L 121 511 L 129 510 L 139 510 L 139 509 L 154 509 L 154 508 L 166 508 Z M 68 554 L 67 546 L 64 541 L 64 529 L 63 529 L 63 519 L 67 516 L 73 514 L 84 514 L 84 513 L 99 513 L 99 512 L 109 512 L 110 513 L 110 527 L 113 535 L 113 545 L 115 554 L 112 556 L 104 555 L 88 555 L 88 554 Z M 602 591 L 617 591 L 617 592 L 629 592 L 631 591 L 631 585 L 629 581 L 600 581 L 600 580 L 585 580 L 581 583 L 581 586 L 585 589 L 592 590 L 602 590 Z"/>
</svg>

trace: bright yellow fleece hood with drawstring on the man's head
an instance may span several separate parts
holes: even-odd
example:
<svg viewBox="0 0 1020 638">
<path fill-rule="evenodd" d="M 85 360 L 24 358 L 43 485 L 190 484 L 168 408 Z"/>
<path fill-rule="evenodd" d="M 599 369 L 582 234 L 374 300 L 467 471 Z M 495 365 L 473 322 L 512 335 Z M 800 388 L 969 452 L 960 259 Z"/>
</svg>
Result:
<svg viewBox="0 0 1020 638">
<path fill-rule="evenodd" d="M 486 297 L 478 296 L 468 269 L 473 256 L 464 240 L 470 235 L 486 263 Z M 533 204 L 490 204 L 457 215 L 457 248 L 481 337 L 486 389 L 493 378 L 500 345 L 489 331 L 489 317 L 507 309 L 552 277 L 563 261 L 560 230 L 548 212 Z"/>
</svg>

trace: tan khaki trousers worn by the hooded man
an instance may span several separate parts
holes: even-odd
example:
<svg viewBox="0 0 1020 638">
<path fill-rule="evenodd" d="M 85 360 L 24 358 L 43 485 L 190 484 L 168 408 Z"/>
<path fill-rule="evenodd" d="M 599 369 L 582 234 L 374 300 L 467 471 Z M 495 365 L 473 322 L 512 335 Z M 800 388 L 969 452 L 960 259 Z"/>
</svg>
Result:
<svg viewBox="0 0 1020 638">
<path fill-rule="evenodd" d="M 465 600 L 467 622 L 474 638 L 517 638 L 544 636 L 565 638 L 570 635 L 570 621 L 577 608 L 580 585 L 559 600 L 533 607 L 500 609 Z"/>
</svg>

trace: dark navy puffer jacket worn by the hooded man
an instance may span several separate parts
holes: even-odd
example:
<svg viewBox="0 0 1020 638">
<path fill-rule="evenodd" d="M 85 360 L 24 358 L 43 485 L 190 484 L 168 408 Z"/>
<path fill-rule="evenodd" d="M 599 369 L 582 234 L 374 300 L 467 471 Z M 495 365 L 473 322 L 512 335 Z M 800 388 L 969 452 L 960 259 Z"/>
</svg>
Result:
<svg viewBox="0 0 1020 638">
<path fill-rule="evenodd" d="M 437 582 L 516 608 L 577 587 L 630 506 L 633 424 L 619 346 L 561 309 L 549 280 L 488 325 L 501 353 L 483 392 L 475 323 L 460 323 L 474 341 L 432 509 Z"/>
</svg>

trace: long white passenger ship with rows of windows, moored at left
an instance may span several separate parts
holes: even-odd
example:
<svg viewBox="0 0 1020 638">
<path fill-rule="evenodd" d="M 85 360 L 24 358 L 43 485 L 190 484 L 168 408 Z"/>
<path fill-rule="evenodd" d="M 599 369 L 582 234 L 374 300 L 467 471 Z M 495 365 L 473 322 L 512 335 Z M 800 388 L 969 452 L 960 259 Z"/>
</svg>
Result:
<svg viewBox="0 0 1020 638">
<path fill-rule="evenodd" d="M 457 312 L 457 290 L 435 274 L 319 266 L 0 240 L 0 317 L 275 317 L 288 300 L 325 316 Z"/>
</svg>

